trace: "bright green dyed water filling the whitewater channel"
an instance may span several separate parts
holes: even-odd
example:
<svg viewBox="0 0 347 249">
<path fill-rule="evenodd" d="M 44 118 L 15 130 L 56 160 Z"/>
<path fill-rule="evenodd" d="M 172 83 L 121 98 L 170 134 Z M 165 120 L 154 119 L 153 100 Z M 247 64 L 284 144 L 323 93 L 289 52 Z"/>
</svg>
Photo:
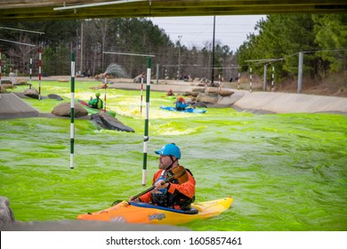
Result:
<svg viewBox="0 0 347 249">
<path fill-rule="evenodd" d="M 69 84 L 43 83 L 69 100 Z M 94 94 L 77 83 L 76 97 Z M 16 90 L 17 91 L 17 90 Z M 234 197 L 230 210 L 183 226 L 193 230 L 346 230 L 347 117 L 254 115 L 232 108 L 167 112 L 150 93 L 148 184 L 141 186 L 144 113 L 140 91 L 108 90 L 108 108 L 136 133 L 96 130 L 76 120 L 75 169 L 69 169 L 69 119 L 0 120 L 0 195 L 19 221 L 74 220 L 150 186 L 154 150 L 175 142 L 197 180 L 197 201 Z M 58 100 L 26 100 L 51 112 Z M 143 107 L 144 108 L 144 107 Z M 145 108 L 144 108 L 145 109 Z"/>
</svg>

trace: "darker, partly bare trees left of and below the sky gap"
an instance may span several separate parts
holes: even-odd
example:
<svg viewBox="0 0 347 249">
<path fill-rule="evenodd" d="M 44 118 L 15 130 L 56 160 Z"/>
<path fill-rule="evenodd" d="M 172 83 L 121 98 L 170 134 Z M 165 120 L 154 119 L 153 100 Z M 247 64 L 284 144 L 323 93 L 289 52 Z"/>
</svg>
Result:
<svg viewBox="0 0 347 249">
<path fill-rule="evenodd" d="M 44 35 L 37 35 L 2 30 L 0 36 L 7 40 L 36 44 L 36 47 L 1 44 L 6 56 L 3 61 L 8 65 L 4 68 L 5 73 L 11 68 L 12 71 L 17 70 L 20 74 L 28 75 L 30 57 L 35 58 L 35 72 L 38 46 L 41 46 L 42 72 L 48 75 L 69 75 L 71 52 L 75 52 L 76 55 L 77 71 L 91 76 L 105 72 L 113 63 L 124 68 L 129 77 L 138 76 L 147 70 L 145 57 L 105 53 L 123 52 L 155 55 L 152 65 L 160 65 L 159 73 L 162 78 L 177 77 L 178 68 L 181 71 L 180 77 L 211 77 L 211 44 L 206 43 L 202 48 L 188 48 L 179 42 L 173 44 L 165 30 L 158 28 L 151 20 L 143 18 L 49 20 L 3 23 L 0 26 L 44 32 Z M 236 61 L 230 47 L 216 43 L 214 54 L 214 66 L 220 68 L 219 73 L 227 74 L 227 69 L 223 68 Z"/>
</svg>

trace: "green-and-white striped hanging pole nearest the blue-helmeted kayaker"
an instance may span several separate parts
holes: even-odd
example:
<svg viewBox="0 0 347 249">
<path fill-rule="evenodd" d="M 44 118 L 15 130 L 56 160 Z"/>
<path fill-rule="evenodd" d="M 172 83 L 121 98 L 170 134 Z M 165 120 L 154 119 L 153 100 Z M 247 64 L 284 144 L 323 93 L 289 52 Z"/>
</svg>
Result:
<svg viewBox="0 0 347 249">
<path fill-rule="evenodd" d="M 146 185 L 147 175 L 147 152 L 149 141 L 149 92 L 150 92 L 150 68 L 152 66 L 152 60 L 148 58 L 147 67 L 147 84 L 146 84 L 146 119 L 144 124 L 144 137 L 143 137 L 143 167 L 142 167 L 142 186 Z"/>
</svg>

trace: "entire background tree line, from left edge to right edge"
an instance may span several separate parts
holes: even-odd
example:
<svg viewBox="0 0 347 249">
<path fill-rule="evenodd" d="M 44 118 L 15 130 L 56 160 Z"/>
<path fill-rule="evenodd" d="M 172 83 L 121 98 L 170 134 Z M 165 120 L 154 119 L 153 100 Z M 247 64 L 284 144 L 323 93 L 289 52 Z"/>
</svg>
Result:
<svg viewBox="0 0 347 249">
<path fill-rule="evenodd" d="M 105 72 L 112 63 L 124 68 L 129 77 L 146 71 L 145 57 L 104 52 L 153 54 L 152 65 L 160 65 L 161 78 L 175 78 L 180 68 L 180 77 L 211 79 L 213 64 L 214 79 L 219 74 L 224 79 L 235 79 L 238 71 L 246 74 L 249 68 L 262 76 L 263 66 L 267 64 L 275 68 L 276 81 L 280 82 L 297 76 L 299 52 L 304 52 L 303 73 L 312 79 L 319 80 L 333 73 L 345 76 L 347 71 L 345 14 L 268 15 L 254 27 L 259 34 L 249 34 L 236 52 L 217 41 L 214 58 L 211 43 L 190 48 L 179 41 L 173 43 L 165 30 L 144 18 L 28 21 L 0 23 L 0 26 L 44 32 L 40 35 L 1 29 L 0 38 L 22 43 L 0 41 L 3 74 L 12 70 L 28 75 L 30 57 L 34 61 L 33 73 L 37 74 L 38 46 L 43 51 L 42 72 L 48 75 L 69 75 L 71 52 L 76 54 L 77 71 L 91 76 Z M 36 44 L 36 47 L 24 44 Z"/>
</svg>

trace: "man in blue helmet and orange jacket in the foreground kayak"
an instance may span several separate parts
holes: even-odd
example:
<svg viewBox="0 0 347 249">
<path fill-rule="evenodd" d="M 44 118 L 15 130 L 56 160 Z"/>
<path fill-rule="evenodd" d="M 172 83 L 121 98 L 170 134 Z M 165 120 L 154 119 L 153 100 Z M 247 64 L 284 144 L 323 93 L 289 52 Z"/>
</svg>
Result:
<svg viewBox="0 0 347 249">
<path fill-rule="evenodd" d="M 155 152 L 160 156 L 159 170 L 153 176 L 153 186 L 156 188 L 133 201 L 182 210 L 190 209 L 190 204 L 195 200 L 196 181 L 188 169 L 186 169 L 188 181 L 178 184 L 176 180 L 173 180 L 162 185 L 165 182 L 168 170 L 179 165 L 178 160 L 181 159 L 181 149 L 174 143 L 169 143 Z M 130 197 L 131 199 L 132 197 Z"/>
</svg>

